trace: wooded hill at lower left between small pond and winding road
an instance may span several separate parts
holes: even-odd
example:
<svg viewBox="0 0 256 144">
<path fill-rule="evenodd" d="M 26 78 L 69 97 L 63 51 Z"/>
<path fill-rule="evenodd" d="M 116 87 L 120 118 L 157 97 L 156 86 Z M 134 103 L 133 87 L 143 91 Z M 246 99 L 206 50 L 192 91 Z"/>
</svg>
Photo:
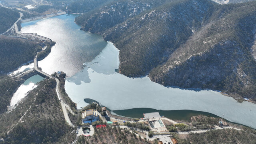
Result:
<svg viewBox="0 0 256 144">
<path fill-rule="evenodd" d="M 74 130 L 64 119 L 56 94 L 56 81 L 41 81 L 9 113 L 0 114 L 0 144 L 71 144 Z"/>
</svg>

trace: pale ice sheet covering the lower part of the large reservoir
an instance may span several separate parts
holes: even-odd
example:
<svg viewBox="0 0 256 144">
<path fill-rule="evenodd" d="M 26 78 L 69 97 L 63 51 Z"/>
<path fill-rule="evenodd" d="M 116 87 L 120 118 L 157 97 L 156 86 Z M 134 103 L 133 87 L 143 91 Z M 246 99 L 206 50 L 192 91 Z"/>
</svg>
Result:
<svg viewBox="0 0 256 144">
<path fill-rule="evenodd" d="M 151 82 L 148 77 L 128 78 L 116 73 L 118 50 L 110 42 L 100 55 L 85 65 L 84 70 L 68 78 L 65 84 L 66 92 L 78 108 L 87 105 L 84 98 L 91 98 L 111 110 L 198 110 L 256 128 L 256 104 L 238 103 L 212 90 L 167 88 Z"/>
</svg>

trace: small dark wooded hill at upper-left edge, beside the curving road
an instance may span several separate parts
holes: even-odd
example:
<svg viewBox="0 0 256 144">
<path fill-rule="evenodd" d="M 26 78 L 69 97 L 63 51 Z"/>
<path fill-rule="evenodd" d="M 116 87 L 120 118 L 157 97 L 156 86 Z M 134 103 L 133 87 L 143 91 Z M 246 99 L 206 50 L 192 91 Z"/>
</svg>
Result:
<svg viewBox="0 0 256 144">
<path fill-rule="evenodd" d="M 0 34 L 8 30 L 19 17 L 20 14 L 17 11 L 0 6 Z"/>
</svg>

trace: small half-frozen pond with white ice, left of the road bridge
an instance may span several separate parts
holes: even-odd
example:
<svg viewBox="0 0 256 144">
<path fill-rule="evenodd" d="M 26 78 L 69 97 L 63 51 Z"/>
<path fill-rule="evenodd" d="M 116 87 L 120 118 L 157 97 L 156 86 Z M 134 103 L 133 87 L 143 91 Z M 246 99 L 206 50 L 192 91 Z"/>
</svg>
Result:
<svg viewBox="0 0 256 144">
<path fill-rule="evenodd" d="M 36 88 L 36 83 L 40 82 L 44 78 L 42 76 L 39 76 L 38 74 L 28 78 L 23 84 L 20 85 L 20 87 L 17 89 L 17 91 L 13 94 L 11 102 L 10 102 L 10 108 L 14 107 L 15 104 L 18 104 L 22 98 L 24 98 L 30 90 L 33 90 Z"/>
</svg>

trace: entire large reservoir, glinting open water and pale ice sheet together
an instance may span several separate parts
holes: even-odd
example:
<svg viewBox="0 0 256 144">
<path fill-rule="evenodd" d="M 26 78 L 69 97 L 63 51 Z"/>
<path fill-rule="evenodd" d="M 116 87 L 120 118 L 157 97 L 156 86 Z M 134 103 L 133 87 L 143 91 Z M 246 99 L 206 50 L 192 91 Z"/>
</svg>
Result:
<svg viewBox="0 0 256 144">
<path fill-rule="evenodd" d="M 256 104 L 238 103 L 212 90 L 164 87 L 147 76 L 128 78 L 117 73 L 119 50 L 102 36 L 81 31 L 74 18 L 62 15 L 22 23 L 21 32 L 37 33 L 56 42 L 38 66 L 48 74 L 67 73 L 65 89 L 78 108 L 87 105 L 84 98 L 90 98 L 114 112 L 132 108 L 194 110 L 256 128 Z"/>
</svg>

